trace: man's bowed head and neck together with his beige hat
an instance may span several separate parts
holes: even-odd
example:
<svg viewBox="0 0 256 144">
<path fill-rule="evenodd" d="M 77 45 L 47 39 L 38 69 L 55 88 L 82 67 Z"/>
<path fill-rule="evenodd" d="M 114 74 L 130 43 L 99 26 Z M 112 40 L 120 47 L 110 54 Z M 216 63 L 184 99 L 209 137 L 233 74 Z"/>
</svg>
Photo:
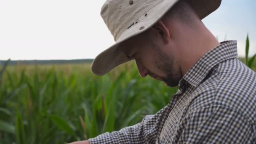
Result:
<svg viewBox="0 0 256 144">
<path fill-rule="evenodd" d="M 142 77 L 178 85 L 181 77 L 218 42 L 201 19 L 221 0 L 107 0 L 101 16 L 116 43 L 93 61 L 105 75 L 131 59 Z M 205 49 L 202 49 L 205 48 Z"/>
</svg>

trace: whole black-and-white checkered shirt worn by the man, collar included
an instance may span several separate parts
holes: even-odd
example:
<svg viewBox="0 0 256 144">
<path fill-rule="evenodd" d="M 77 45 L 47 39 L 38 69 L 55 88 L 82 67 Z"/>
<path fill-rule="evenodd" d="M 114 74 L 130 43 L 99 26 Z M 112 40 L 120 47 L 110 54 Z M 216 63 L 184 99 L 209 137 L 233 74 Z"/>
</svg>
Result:
<svg viewBox="0 0 256 144">
<path fill-rule="evenodd" d="M 180 80 L 167 106 L 90 144 L 256 143 L 256 73 L 237 59 L 237 42 L 206 53 Z"/>
</svg>

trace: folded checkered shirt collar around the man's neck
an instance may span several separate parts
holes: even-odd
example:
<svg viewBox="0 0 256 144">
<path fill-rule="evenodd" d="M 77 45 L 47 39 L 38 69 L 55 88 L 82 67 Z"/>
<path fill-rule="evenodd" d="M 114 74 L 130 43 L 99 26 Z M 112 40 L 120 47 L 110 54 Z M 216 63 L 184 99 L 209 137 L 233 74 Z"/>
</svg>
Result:
<svg viewBox="0 0 256 144">
<path fill-rule="evenodd" d="M 181 86 L 183 80 L 197 87 L 201 81 L 208 75 L 208 72 L 222 61 L 237 58 L 237 41 L 230 40 L 221 42 L 219 46 L 208 51 L 193 67 L 183 76 L 178 86 Z"/>
</svg>

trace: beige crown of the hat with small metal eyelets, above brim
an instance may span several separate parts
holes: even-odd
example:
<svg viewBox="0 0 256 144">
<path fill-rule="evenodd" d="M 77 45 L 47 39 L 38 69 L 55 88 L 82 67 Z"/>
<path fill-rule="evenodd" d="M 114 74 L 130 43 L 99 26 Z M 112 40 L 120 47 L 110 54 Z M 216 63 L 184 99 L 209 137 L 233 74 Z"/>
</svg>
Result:
<svg viewBox="0 0 256 144">
<path fill-rule="evenodd" d="M 122 32 L 141 21 L 150 8 L 163 0 L 107 0 L 101 8 L 101 17 L 115 41 Z"/>
</svg>

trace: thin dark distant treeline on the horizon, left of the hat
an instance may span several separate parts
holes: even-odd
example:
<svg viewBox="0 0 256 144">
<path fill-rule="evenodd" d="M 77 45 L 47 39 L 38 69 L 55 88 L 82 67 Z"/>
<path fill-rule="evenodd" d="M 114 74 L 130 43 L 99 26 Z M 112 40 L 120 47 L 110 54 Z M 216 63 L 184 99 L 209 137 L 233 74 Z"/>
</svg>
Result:
<svg viewBox="0 0 256 144">
<path fill-rule="evenodd" d="M 15 64 L 79 64 L 79 63 L 91 63 L 93 59 L 73 59 L 73 60 L 19 60 L 9 61 L 9 65 Z M 0 61 L 0 65 L 4 64 L 5 61 Z"/>
</svg>

